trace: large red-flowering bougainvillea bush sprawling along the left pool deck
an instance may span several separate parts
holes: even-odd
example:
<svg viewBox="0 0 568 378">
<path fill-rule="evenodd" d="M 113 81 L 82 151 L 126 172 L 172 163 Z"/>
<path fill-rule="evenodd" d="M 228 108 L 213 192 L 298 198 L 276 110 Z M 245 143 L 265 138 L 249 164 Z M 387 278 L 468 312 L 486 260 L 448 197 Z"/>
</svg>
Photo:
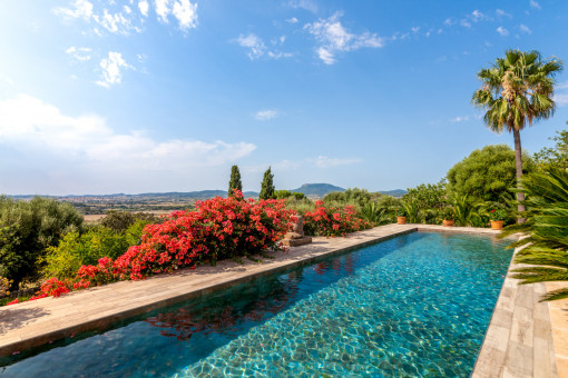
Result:
<svg viewBox="0 0 568 378">
<path fill-rule="evenodd" d="M 51 278 L 31 299 L 280 249 L 293 215 L 284 200 L 245 200 L 239 191 L 199 201 L 194 211 L 175 211 L 163 223 L 146 226 L 141 243 L 116 260 L 104 257 L 96 266 L 82 266 L 75 280 Z"/>
</svg>

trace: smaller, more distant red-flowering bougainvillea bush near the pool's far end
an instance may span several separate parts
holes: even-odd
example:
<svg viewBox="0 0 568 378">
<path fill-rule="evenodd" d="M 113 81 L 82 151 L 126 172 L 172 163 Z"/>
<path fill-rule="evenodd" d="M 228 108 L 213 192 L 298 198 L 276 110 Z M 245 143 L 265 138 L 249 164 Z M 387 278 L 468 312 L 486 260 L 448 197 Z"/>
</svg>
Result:
<svg viewBox="0 0 568 378">
<path fill-rule="evenodd" d="M 304 213 L 304 231 L 312 236 L 345 236 L 349 232 L 371 228 L 352 206 L 325 207 L 315 201 L 315 209 Z"/>
</svg>

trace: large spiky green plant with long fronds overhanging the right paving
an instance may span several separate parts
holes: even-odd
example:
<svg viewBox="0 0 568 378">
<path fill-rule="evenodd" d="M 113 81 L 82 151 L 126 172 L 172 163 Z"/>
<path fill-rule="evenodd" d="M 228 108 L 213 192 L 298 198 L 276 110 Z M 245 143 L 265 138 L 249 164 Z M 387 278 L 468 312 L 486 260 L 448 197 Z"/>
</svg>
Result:
<svg viewBox="0 0 568 378">
<path fill-rule="evenodd" d="M 511 247 L 528 245 L 516 262 L 531 265 L 516 269 L 521 284 L 568 280 L 568 172 L 548 168 L 522 178 L 526 191 L 526 223 L 507 227 L 501 237 L 525 232 L 527 238 Z M 543 300 L 568 298 L 568 288 L 547 294 Z"/>
</svg>

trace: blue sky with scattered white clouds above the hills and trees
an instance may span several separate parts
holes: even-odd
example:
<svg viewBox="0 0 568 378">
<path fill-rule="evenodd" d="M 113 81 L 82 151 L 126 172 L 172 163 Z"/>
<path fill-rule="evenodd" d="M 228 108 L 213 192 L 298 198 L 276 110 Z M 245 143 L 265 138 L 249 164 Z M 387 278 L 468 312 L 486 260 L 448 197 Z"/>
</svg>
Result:
<svg viewBox="0 0 568 378">
<path fill-rule="evenodd" d="M 508 143 L 470 105 L 508 48 L 568 61 L 568 2 L 4 0 L 0 192 L 437 182 Z M 521 132 L 530 153 L 566 128 Z"/>
</svg>

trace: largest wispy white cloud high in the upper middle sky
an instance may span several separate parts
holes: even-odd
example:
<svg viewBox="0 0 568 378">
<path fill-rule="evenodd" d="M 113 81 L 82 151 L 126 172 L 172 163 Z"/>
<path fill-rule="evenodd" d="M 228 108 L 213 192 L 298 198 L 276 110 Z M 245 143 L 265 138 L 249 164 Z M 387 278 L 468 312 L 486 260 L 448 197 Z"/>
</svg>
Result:
<svg viewBox="0 0 568 378">
<path fill-rule="evenodd" d="M 336 12 L 329 19 L 320 19 L 304 26 L 319 42 L 317 57 L 325 64 L 333 64 L 337 52 L 353 51 L 363 47 L 381 48 L 384 39 L 368 31 L 361 34 L 349 32 L 340 22 L 341 12 Z"/>
</svg>

